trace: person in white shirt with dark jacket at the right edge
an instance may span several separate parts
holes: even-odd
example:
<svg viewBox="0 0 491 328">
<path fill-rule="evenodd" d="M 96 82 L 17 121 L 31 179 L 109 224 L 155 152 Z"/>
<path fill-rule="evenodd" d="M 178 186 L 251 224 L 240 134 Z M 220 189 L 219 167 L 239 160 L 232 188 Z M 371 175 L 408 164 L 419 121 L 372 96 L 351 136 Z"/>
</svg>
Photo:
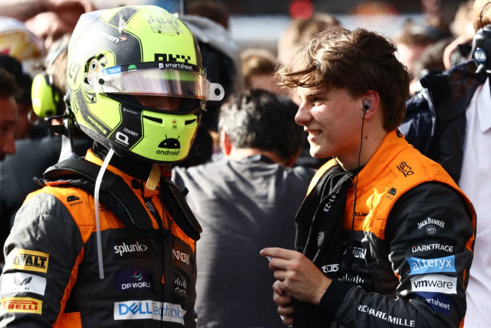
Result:
<svg viewBox="0 0 491 328">
<path fill-rule="evenodd" d="M 440 163 L 477 213 L 464 327 L 490 327 L 491 313 L 491 1 L 473 5 L 471 59 L 422 80 L 399 127 L 406 140 Z M 484 29 L 483 29 L 484 28 Z"/>
</svg>

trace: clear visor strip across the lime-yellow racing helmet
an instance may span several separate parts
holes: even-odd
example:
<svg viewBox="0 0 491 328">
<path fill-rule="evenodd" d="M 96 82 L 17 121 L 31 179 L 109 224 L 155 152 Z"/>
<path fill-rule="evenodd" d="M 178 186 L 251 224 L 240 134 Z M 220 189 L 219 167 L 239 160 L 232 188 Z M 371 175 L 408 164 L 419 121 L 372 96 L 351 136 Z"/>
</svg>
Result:
<svg viewBox="0 0 491 328">
<path fill-rule="evenodd" d="M 111 72 L 114 69 L 114 73 Z M 202 74 L 180 70 L 135 70 L 118 72 L 118 68 L 103 72 L 89 71 L 88 81 L 96 93 L 192 97 L 222 100 L 225 92 L 218 83 L 210 83 Z"/>
</svg>

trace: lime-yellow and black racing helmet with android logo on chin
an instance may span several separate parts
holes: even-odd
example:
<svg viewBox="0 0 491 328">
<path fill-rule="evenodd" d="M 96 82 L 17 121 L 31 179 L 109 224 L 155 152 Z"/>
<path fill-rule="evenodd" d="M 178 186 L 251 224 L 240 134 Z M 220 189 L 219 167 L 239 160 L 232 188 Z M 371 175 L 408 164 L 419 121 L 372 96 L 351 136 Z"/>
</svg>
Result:
<svg viewBox="0 0 491 328">
<path fill-rule="evenodd" d="M 206 101 L 224 97 L 206 79 L 193 34 L 154 5 L 83 14 L 66 77 L 69 110 L 86 134 L 120 156 L 156 163 L 184 160 Z"/>
</svg>

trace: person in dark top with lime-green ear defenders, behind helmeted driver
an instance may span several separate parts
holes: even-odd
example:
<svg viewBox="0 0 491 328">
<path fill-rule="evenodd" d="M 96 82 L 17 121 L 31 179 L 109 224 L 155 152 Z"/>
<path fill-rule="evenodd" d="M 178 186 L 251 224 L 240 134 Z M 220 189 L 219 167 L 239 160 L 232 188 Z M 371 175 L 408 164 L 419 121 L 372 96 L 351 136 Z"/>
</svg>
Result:
<svg viewBox="0 0 491 328">
<path fill-rule="evenodd" d="M 49 124 L 63 126 L 66 94 L 66 56 L 68 39 L 60 39 L 52 46 L 46 60 L 46 70 L 34 77 L 35 83 L 29 90 L 29 99 L 33 99 L 34 109 L 39 114 L 39 120 L 47 116 L 57 116 L 49 120 Z M 45 122 L 39 126 L 46 127 Z M 71 152 L 69 145 L 62 154 L 63 138 L 61 134 L 50 132 L 43 138 L 27 138 L 16 140 L 16 153 L 8 155 L 0 162 L 0 244 L 5 239 L 14 222 L 15 214 L 21 207 L 26 196 L 40 188 L 34 178 L 42 176 L 51 165 Z M 65 142 L 66 144 L 66 142 Z M 79 129 L 74 129 L 73 152 L 79 156 L 85 155 L 93 142 Z M 68 148 L 68 149 L 67 149 Z M 3 252 L 0 254 L 3 262 Z"/>
</svg>

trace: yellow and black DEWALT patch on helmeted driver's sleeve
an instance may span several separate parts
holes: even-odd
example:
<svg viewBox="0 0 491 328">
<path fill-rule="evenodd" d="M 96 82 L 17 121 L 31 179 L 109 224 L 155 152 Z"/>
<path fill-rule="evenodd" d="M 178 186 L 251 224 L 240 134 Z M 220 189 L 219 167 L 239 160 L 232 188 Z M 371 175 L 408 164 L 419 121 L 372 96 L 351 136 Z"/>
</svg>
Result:
<svg viewBox="0 0 491 328">
<path fill-rule="evenodd" d="M 5 260 L 6 269 L 19 269 L 28 271 L 48 271 L 49 254 L 31 250 L 15 249 Z"/>
</svg>

